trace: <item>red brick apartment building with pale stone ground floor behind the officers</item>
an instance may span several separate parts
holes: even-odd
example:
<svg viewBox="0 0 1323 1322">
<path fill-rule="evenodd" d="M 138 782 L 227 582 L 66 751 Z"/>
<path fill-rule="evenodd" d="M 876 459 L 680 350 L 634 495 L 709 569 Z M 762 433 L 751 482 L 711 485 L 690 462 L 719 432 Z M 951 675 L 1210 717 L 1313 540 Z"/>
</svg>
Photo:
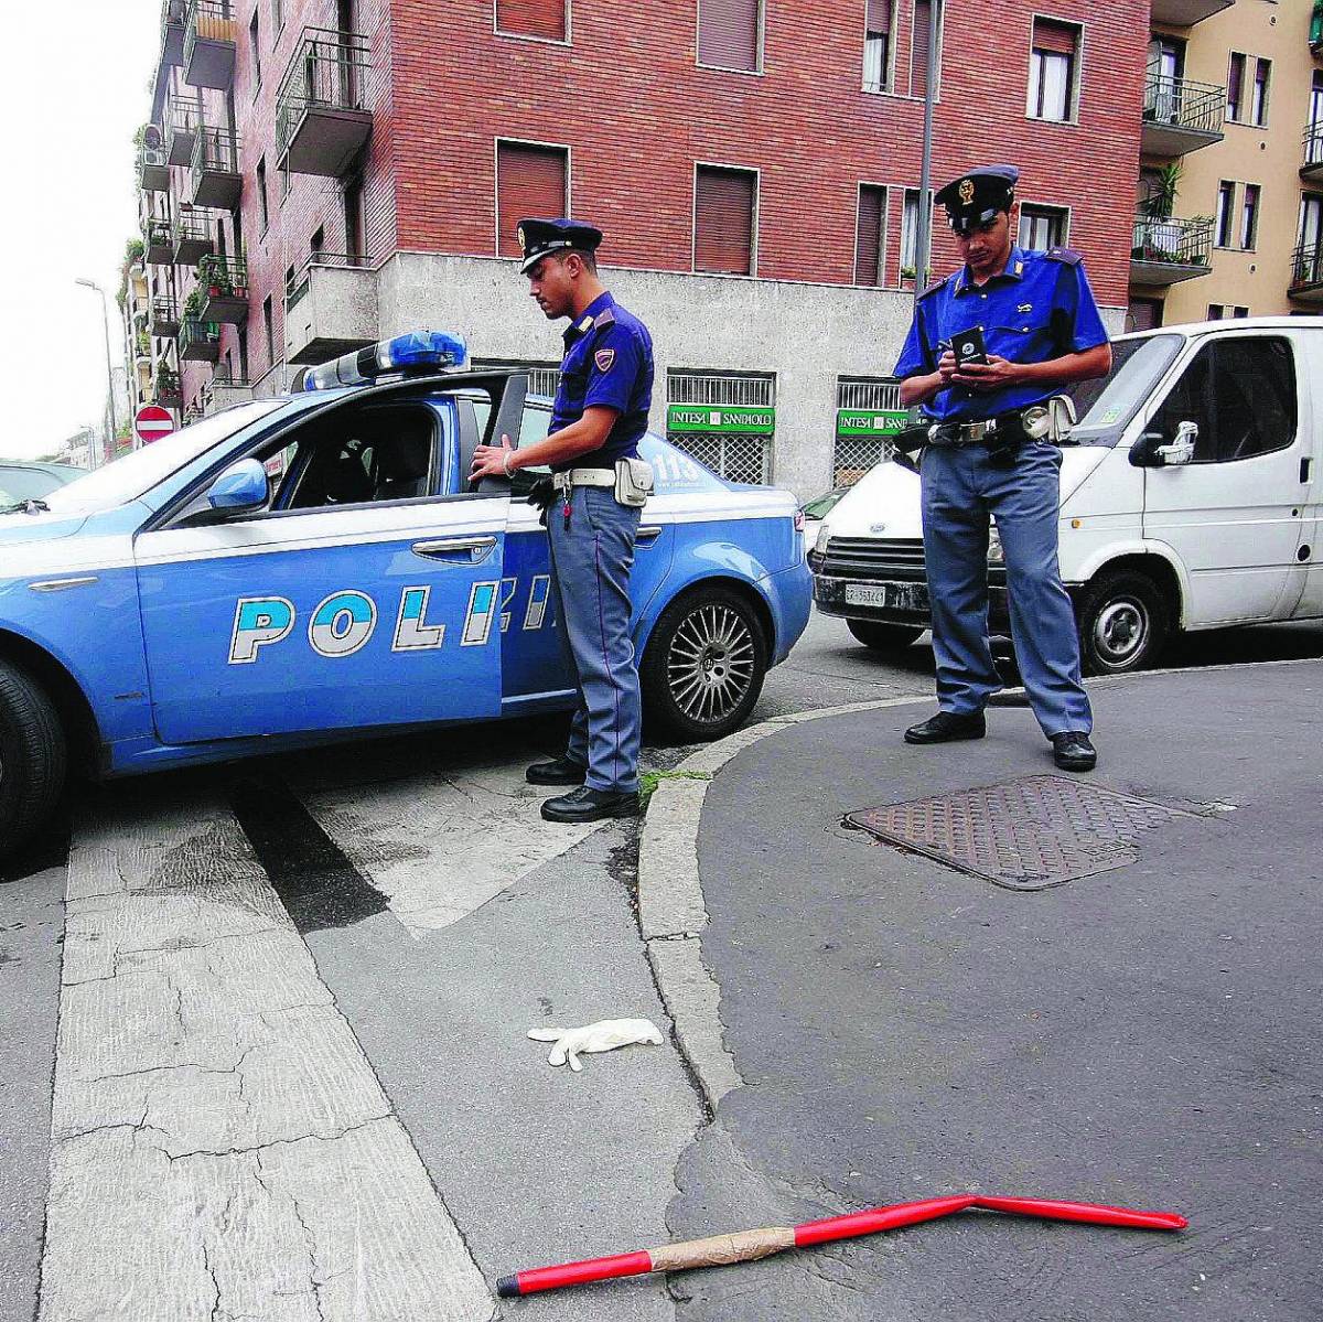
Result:
<svg viewBox="0 0 1323 1322">
<path fill-rule="evenodd" d="M 606 230 L 607 281 L 654 331 L 654 425 L 811 495 L 867 464 L 896 404 L 929 3 L 165 0 L 147 150 L 184 160 L 191 116 L 202 147 L 165 188 L 149 171 L 144 229 L 177 236 L 210 201 L 222 281 L 197 283 L 196 247 L 148 253 L 180 323 L 157 361 L 183 355 L 187 410 L 419 326 L 479 361 L 554 363 L 501 254 L 517 206 L 561 204 Z M 1082 249 L 1119 328 L 1148 0 L 941 19 L 934 179 L 1019 164 L 1023 240 Z M 938 226 L 934 269 L 953 265 Z"/>
</svg>

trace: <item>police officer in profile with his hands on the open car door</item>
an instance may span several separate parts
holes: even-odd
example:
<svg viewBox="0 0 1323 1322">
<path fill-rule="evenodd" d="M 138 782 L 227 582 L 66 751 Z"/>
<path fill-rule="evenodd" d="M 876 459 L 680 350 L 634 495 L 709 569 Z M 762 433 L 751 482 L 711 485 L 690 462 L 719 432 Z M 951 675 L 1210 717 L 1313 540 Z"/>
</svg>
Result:
<svg viewBox="0 0 1323 1322">
<path fill-rule="evenodd" d="M 640 487 L 651 484 L 638 446 L 652 401 L 652 337 L 598 279 L 599 229 L 525 220 L 519 237 L 529 292 L 548 319 L 570 319 L 561 384 L 546 439 L 479 446 L 472 476 L 550 464 L 552 582 L 579 687 L 564 757 L 531 766 L 528 779 L 577 786 L 542 805 L 550 822 L 636 816 L 642 717 L 630 568 Z"/>
</svg>

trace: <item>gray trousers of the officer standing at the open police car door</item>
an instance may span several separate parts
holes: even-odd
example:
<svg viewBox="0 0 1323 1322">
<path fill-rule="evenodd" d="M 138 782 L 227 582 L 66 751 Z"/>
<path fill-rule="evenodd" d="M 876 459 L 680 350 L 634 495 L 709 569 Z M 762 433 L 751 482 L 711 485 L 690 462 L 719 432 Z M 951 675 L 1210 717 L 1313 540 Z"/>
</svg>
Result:
<svg viewBox="0 0 1323 1322">
<path fill-rule="evenodd" d="M 639 787 L 642 705 L 630 633 L 630 568 L 640 509 L 605 487 L 576 487 L 570 525 L 557 496 L 546 511 L 552 586 L 578 676 L 579 704 L 565 756 L 587 768 L 587 786 Z"/>
</svg>

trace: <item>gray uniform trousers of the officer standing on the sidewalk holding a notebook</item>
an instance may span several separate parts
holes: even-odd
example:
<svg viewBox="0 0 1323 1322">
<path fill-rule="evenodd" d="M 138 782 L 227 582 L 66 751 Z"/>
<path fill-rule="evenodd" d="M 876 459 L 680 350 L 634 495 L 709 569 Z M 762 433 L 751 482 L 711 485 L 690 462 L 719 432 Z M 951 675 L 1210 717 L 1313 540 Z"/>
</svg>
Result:
<svg viewBox="0 0 1323 1322">
<path fill-rule="evenodd" d="M 927 446 L 919 464 L 923 558 L 933 611 L 937 696 L 943 712 L 980 712 L 1002 688 L 988 647 L 988 515 L 1005 554 L 1011 635 L 1044 734 L 1089 733 L 1080 638 L 1061 585 L 1057 523 L 1061 451 L 1029 441 L 1009 467 L 984 446 Z"/>
</svg>

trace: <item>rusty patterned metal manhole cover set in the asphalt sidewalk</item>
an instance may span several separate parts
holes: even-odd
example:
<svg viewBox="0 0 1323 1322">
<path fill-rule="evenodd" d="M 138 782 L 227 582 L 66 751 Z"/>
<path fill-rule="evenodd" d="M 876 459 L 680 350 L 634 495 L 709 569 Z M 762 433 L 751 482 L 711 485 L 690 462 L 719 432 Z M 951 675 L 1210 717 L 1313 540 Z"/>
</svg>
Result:
<svg viewBox="0 0 1323 1322">
<path fill-rule="evenodd" d="M 1013 891 L 1123 868 L 1144 831 L 1196 814 L 1060 775 L 861 809 L 847 826 Z"/>
</svg>

